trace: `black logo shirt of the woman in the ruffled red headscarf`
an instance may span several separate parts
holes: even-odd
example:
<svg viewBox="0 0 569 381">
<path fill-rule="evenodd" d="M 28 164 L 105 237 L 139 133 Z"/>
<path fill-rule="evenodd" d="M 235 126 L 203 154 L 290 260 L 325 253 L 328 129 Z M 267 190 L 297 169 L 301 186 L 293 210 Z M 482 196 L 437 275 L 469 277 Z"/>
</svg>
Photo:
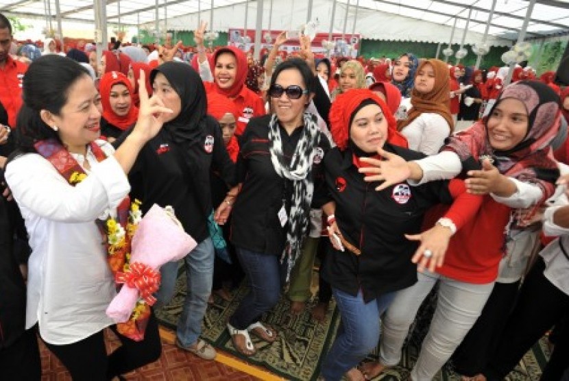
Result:
<svg viewBox="0 0 569 381">
<path fill-rule="evenodd" d="M 422 153 L 400 147 L 384 146 L 405 160 L 417 160 Z M 346 240 L 359 247 L 356 256 L 346 249 L 331 248 L 324 265 L 324 278 L 332 287 L 356 296 L 363 291 L 365 302 L 398 291 L 417 282 L 417 265 L 411 257 L 415 241 L 404 234 L 420 232 L 423 214 L 435 204 L 452 204 L 448 181 L 409 186 L 406 182 L 380 192 L 378 182 L 363 181 L 353 164 L 352 152 L 331 149 L 324 158 L 326 184 L 336 203 L 335 217 Z"/>
</svg>

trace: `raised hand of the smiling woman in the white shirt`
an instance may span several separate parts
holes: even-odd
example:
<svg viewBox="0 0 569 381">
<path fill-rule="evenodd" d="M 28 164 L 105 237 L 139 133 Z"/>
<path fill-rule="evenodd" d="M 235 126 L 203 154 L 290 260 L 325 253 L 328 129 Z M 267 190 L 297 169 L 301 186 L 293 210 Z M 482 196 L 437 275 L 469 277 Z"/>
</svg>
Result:
<svg viewBox="0 0 569 381">
<path fill-rule="evenodd" d="M 141 76 L 138 79 L 138 96 L 141 100 L 141 106 L 138 110 L 138 121 L 136 121 L 132 134 L 137 134 L 141 140 L 148 141 L 158 134 L 167 117 L 173 111 L 165 107 L 157 95 L 148 97 L 143 70 L 141 70 Z"/>
</svg>

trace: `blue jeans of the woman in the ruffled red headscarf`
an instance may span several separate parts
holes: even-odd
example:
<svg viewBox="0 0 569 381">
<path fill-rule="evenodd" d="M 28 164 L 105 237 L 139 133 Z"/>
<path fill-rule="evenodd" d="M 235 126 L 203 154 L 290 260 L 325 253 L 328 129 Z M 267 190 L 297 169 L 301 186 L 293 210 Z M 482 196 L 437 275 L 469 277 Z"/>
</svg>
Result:
<svg viewBox="0 0 569 381">
<path fill-rule="evenodd" d="M 363 301 L 361 290 L 357 296 L 332 288 L 340 310 L 341 322 L 334 344 L 322 364 L 326 381 L 340 380 L 377 346 L 380 334 L 380 316 L 387 310 L 395 293 L 381 295 L 369 303 Z"/>
</svg>

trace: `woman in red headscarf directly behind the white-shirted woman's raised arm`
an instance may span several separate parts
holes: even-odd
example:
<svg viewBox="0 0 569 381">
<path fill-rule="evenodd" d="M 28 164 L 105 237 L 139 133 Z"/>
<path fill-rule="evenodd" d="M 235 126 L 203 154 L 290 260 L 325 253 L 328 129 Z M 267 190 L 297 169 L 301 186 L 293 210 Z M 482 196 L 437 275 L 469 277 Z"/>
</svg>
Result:
<svg viewBox="0 0 569 381">
<path fill-rule="evenodd" d="M 132 84 L 123 73 L 111 71 L 99 82 L 101 105 L 101 135 L 109 141 L 128 130 L 138 119 L 138 108 L 132 103 Z"/>
</svg>

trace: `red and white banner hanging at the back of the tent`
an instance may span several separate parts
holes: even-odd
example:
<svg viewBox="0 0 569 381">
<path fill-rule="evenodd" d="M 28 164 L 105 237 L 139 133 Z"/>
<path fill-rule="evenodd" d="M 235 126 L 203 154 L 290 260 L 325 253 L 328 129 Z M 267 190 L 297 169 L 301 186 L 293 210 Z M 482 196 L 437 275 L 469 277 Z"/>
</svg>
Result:
<svg viewBox="0 0 569 381">
<path fill-rule="evenodd" d="M 280 30 L 267 30 L 263 29 L 261 32 L 261 49 L 271 49 L 272 42 L 278 37 L 282 31 Z M 298 34 L 297 31 L 292 31 L 293 34 Z M 267 38 L 270 36 L 270 40 Z M 332 56 L 350 56 L 356 58 L 359 53 L 359 42 L 361 36 L 359 34 L 345 34 L 342 38 L 341 33 L 332 34 L 332 41 L 335 41 L 335 48 L 332 51 Z M 328 33 L 317 33 L 312 40 L 312 51 L 314 53 L 326 53 L 326 49 L 322 47 L 322 42 L 328 40 Z M 244 29 L 229 29 L 228 45 L 238 47 L 243 51 L 253 51 L 255 46 L 255 31 L 254 29 L 247 29 L 245 34 Z M 300 42 L 297 38 L 290 38 L 287 42 L 280 47 L 280 50 L 292 53 L 293 51 L 300 50 Z"/>
</svg>

